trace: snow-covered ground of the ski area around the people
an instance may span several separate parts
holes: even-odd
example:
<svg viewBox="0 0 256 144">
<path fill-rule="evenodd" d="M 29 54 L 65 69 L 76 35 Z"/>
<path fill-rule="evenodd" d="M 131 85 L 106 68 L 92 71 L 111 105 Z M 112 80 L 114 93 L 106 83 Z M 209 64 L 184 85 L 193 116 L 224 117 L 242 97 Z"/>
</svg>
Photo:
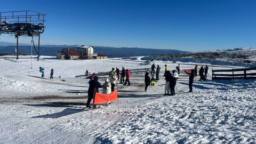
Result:
<svg viewBox="0 0 256 144">
<path fill-rule="evenodd" d="M 30 69 L 30 59 L 0 59 L 0 143 L 256 143 L 255 80 L 195 81 L 188 93 L 188 76 L 181 74 L 177 94 L 164 96 L 164 65 L 177 66 L 171 62 L 155 61 L 161 79 L 148 92 L 143 74 L 132 75 L 131 86 L 117 86 L 119 109 L 117 101 L 100 105 L 91 118 L 91 109 L 84 109 L 88 79 L 75 76 L 86 69 L 150 67 L 140 63 L 45 56 Z M 45 79 L 39 78 L 40 66 Z M 194 66 L 181 64 L 187 68 Z"/>
</svg>

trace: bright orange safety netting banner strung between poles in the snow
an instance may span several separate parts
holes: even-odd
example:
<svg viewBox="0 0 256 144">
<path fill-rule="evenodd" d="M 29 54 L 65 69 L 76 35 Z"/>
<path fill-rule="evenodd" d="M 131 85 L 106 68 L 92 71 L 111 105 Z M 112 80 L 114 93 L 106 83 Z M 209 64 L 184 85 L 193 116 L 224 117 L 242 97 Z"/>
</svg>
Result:
<svg viewBox="0 0 256 144">
<path fill-rule="evenodd" d="M 117 100 L 117 90 L 110 94 L 96 93 L 94 98 L 94 104 L 104 103 L 108 101 Z"/>
</svg>

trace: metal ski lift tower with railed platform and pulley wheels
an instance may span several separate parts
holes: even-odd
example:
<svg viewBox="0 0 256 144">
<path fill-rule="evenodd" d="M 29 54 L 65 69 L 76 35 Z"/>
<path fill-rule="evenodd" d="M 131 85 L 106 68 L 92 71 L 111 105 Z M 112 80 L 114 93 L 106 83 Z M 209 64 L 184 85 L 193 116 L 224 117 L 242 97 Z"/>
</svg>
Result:
<svg viewBox="0 0 256 144">
<path fill-rule="evenodd" d="M 17 38 L 17 59 L 19 59 L 19 36 L 38 37 L 38 49 L 36 50 L 34 40 L 33 45 L 38 55 L 37 60 L 40 57 L 40 35 L 44 32 L 44 13 L 35 11 L 10 11 L 0 12 L 0 35 L 10 34 L 15 35 Z"/>
</svg>

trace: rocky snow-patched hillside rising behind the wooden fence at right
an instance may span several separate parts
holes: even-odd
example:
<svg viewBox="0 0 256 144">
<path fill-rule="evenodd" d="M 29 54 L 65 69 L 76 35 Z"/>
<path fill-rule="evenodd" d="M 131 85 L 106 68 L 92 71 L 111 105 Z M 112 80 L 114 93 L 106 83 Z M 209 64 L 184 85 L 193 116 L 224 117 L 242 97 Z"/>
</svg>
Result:
<svg viewBox="0 0 256 144">
<path fill-rule="evenodd" d="M 145 57 L 143 58 L 143 60 L 155 59 L 163 61 L 209 63 L 211 65 L 256 67 L 255 55 L 255 47 L 245 47 L 194 53 L 171 53 L 153 55 Z"/>
</svg>

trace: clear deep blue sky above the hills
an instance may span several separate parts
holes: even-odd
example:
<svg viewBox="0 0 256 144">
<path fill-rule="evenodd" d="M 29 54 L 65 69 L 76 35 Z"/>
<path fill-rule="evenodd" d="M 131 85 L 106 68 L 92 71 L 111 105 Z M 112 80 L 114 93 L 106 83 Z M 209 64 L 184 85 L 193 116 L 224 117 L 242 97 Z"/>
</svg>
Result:
<svg viewBox="0 0 256 144">
<path fill-rule="evenodd" d="M 9 3 L 9 2 L 8 2 Z M 12 1 L 46 15 L 42 44 L 206 51 L 256 46 L 256 1 Z M 30 43 L 23 37 L 21 43 Z M 0 42 L 15 42 L 1 35 Z"/>
</svg>

